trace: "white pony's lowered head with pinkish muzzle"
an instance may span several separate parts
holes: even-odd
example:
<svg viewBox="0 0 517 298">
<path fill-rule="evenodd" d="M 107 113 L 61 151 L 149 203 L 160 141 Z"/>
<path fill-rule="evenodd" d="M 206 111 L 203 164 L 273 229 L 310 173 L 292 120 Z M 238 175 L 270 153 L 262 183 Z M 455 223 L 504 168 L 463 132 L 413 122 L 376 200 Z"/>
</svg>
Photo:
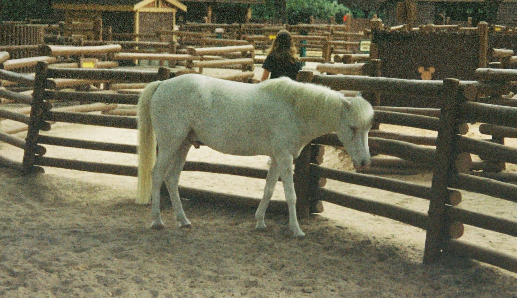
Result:
<svg viewBox="0 0 517 298">
<path fill-rule="evenodd" d="M 339 96 L 343 108 L 336 131 L 338 138 L 352 158 L 356 170 L 369 167 L 372 158 L 368 147 L 368 132 L 372 127 L 372 105 L 362 98 L 361 93 L 354 97 Z"/>
</svg>

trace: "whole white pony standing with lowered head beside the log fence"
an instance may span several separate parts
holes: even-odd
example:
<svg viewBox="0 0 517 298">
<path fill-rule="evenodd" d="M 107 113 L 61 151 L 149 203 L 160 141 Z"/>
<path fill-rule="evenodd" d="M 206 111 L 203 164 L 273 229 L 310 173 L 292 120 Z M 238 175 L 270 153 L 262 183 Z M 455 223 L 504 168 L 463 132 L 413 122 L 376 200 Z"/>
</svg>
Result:
<svg viewBox="0 0 517 298">
<path fill-rule="evenodd" d="M 255 213 L 256 229 L 282 178 L 294 236 L 304 236 L 296 218 L 293 159 L 314 138 L 335 131 L 355 167 L 370 164 L 368 131 L 372 106 L 362 97 L 344 97 L 323 86 L 290 78 L 246 84 L 199 74 L 151 82 L 138 104 L 138 199 L 152 198 L 152 228 L 163 228 L 160 185 L 165 180 L 176 220 L 190 226 L 178 193 L 178 180 L 192 144 L 203 143 L 225 154 L 267 155 L 271 164 L 264 196 Z M 156 159 L 156 141 L 158 157 Z M 151 168 L 152 187 L 151 187 Z"/>
</svg>

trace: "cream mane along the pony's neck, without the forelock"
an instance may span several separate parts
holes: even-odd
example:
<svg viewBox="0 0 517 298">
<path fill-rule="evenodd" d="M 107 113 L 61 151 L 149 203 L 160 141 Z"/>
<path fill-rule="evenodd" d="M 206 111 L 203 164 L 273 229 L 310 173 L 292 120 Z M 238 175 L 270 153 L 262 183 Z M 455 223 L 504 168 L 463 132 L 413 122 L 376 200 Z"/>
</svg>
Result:
<svg viewBox="0 0 517 298">
<path fill-rule="evenodd" d="M 320 119 L 332 126 L 339 121 L 343 104 L 338 93 L 328 87 L 281 77 L 261 82 L 260 88 L 293 106 L 302 119 Z"/>
</svg>

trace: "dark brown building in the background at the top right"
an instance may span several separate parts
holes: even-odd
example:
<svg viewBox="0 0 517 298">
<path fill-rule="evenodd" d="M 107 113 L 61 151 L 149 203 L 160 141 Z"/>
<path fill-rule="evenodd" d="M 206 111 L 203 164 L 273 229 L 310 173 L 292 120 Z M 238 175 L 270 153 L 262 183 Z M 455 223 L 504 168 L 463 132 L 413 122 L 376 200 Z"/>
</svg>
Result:
<svg viewBox="0 0 517 298">
<path fill-rule="evenodd" d="M 397 21 L 397 3 L 401 0 L 379 0 L 379 11 L 387 26 L 402 24 Z M 473 25 L 485 21 L 483 13 L 478 13 L 482 6 L 479 0 L 415 0 L 417 15 L 414 26 L 434 24 L 437 14 L 445 13 L 451 17 L 452 24 L 466 25 L 467 18 L 473 18 Z M 455 13 L 451 11 L 456 11 Z M 517 26 L 517 0 L 503 0 L 497 12 L 497 24 Z"/>
</svg>

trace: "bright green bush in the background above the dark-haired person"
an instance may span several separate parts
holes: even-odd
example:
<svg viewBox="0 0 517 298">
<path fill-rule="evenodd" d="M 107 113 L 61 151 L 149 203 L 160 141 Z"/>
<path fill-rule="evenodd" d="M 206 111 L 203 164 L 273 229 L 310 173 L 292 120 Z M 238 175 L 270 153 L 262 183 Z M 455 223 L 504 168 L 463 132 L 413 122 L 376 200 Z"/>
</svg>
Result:
<svg viewBox="0 0 517 298">
<path fill-rule="evenodd" d="M 342 4 L 329 0 L 287 0 L 285 19 L 289 24 L 309 23 L 310 16 L 326 20 L 335 15 L 336 20 L 351 11 Z"/>
</svg>

